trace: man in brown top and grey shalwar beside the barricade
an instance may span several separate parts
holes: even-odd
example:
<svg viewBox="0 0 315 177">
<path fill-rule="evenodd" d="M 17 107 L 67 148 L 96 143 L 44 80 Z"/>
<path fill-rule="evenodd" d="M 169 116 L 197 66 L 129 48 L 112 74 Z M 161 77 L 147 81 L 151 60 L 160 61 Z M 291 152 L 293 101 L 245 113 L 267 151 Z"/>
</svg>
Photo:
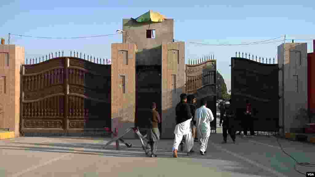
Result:
<svg viewBox="0 0 315 177">
<path fill-rule="evenodd" d="M 156 103 L 152 102 L 151 105 L 151 116 L 149 116 L 149 128 L 147 130 L 147 137 L 149 139 L 148 144 L 151 146 L 151 157 L 157 157 L 157 141 L 160 140 L 160 131 L 158 129 L 158 123 L 161 122 L 159 113 L 156 111 Z M 148 155 L 148 152 L 146 151 Z"/>
</svg>

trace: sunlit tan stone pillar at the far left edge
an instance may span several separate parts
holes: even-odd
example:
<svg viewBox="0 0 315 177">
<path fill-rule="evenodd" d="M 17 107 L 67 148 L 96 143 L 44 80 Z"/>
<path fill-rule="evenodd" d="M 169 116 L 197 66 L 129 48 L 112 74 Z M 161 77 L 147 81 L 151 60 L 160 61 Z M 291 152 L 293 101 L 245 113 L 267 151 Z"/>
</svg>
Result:
<svg viewBox="0 0 315 177">
<path fill-rule="evenodd" d="M 20 135 L 20 66 L 24 47 L 0 45 L 0 128 Z"/>
</svg>

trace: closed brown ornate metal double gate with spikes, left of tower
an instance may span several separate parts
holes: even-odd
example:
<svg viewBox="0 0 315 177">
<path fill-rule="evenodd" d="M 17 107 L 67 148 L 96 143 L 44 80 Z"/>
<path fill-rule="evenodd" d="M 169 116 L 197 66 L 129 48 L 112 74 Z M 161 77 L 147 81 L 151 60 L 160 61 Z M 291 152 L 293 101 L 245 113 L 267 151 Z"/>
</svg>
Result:
<svg viewBox="0 0 315 177">
<path fill-rule="evenodd" d="M 103 128 L 111 127 L 111 65 L 78 55 L 22 65 L 20 102 L 24 135 L 106 134 Z"/>
</svg>

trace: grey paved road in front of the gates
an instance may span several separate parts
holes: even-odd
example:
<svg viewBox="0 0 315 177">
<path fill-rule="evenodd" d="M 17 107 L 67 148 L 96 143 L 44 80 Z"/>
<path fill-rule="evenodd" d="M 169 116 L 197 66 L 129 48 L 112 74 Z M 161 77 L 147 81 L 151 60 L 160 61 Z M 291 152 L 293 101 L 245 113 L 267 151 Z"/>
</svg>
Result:
<svg viewBox="0 0 315 177">
<path fill-rule="evenodd" d="M 303 176 L 294 170 L 273 137 L 237 138 L 221 144 L 222 134 L 212 134 L 207 156 L 179 153 L 172 158 L 173 140 L 158 143 L 157 158 L 145 157 L 139 140 L 127 140 L 132 148 L 114 144 L 102 149 L 109 139 L 80 137 L 20 137 L 0 141 L 0 176 Z M 285 151 L 300 162 L 312 162 L 314 145 L 280 140 Z M 315 171 L 298 167 L 303 173 Z"/>
</svg>

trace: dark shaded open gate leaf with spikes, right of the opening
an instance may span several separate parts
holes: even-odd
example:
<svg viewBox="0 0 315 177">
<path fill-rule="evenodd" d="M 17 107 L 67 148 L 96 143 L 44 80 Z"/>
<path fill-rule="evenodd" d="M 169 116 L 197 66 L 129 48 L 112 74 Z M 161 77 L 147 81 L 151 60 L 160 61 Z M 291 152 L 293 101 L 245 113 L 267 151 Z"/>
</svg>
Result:
<svg viewBox="0 0 315 177">
<path fill-rule="evenodd" d="M 231 58 L 231 96 L 237 130 L 242 131 L 241 119 L 248 99 L 254 111 L 255 132 L 273 135 L 279 130 L 279 67 L 270 60 L 261 63 L 260 58 L 252 59 Z"/>
</svg>

